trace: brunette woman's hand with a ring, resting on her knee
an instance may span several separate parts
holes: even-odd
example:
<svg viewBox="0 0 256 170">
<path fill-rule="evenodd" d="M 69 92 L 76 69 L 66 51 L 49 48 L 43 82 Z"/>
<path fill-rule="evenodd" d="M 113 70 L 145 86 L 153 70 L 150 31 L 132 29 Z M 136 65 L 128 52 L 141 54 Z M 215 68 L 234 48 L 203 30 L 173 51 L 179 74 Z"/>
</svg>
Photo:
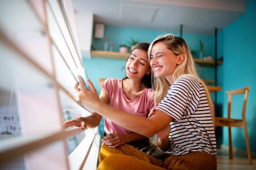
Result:
<svg viewBox="0 0 256 170">
<path fill-rule="evenodd" d="M 101 139 L 102 142 L 105 141 L 105 144 L 108 145 L 110 148 L 116 148 L 121 145 L 124 145 L 127 143 L 127 138 L 125 134 L 118 134 L 118 133 L 113 133 L 114 137 L 109 138 L 109 136 L 106 136 L 105 138 Z"/>
</svg>

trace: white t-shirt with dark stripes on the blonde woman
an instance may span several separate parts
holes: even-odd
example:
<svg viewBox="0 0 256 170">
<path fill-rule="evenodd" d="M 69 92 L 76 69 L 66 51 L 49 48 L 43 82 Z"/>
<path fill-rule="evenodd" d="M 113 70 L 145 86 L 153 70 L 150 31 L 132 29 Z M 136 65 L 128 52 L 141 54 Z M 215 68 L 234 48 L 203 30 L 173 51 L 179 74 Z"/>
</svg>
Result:
<svg viewBox="0 0 256 170">
<path fill-rule="evenodd" d="M 206 152 L 216 156 L 212 117 L 203 85 L 195 78 L 177 79 L 156 109 L 167 113 L 170 123 L 171 155 Z"/>
</svg>

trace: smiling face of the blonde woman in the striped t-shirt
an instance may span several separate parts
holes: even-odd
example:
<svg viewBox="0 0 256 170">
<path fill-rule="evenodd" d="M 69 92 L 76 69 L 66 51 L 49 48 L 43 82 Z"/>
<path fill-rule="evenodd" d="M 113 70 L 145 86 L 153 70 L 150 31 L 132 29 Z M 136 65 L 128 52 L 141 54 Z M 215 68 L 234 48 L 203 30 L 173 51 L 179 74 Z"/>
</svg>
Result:
<svg viewBox="0 0 256 170">
<path fill-rule="evenodd" d="M 175 55 L 162 42 L 156 42 L 152 46 L 150 58 L 150 66 L 154 71 L 154 76 L 156 78 L 164 77 L 172 84 L 174 82 L 172 75 L 177 67 L 177 63 L 179 63 L 180 55 Z"/>
</svg>

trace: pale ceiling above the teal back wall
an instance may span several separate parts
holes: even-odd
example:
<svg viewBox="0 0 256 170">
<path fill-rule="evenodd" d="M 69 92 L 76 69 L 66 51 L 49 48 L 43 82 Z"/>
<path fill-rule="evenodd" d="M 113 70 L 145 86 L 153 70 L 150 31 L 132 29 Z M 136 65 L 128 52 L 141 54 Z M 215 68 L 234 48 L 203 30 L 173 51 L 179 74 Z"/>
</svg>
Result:
<svg viewBox="0 0 256 170">
<path fill-rule="evenodd" d="M 94 23 L 164 32 L 214 35 L 246 11 L 248 0 L 73 0 Z"/>
</svg>

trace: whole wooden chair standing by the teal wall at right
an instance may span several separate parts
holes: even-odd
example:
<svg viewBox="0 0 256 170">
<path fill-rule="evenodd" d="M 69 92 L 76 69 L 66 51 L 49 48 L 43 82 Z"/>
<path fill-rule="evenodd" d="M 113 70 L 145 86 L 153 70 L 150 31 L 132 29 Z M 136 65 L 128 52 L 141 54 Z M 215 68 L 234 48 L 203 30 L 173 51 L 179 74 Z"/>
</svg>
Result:
<svg viewBox="0 0 256 170">
<path fill-rule="evenodd" d="M 228 94 L 228 118 L 222 118 L 222 117 L 214 117 L 214 126 L 228 126 L 229 128 L 229 159 L 233 159 L 233 145 L 232 145 L 232 132 L 231 127 L 237 127 L 237 128 L 243 128 L 245 132 L 245 142 L 247 147 L 247 154 L 249 158 L 249 162 L 252 165 L 251 160 L 251 151 L 250 151 L 250 143 L 249 143 L 249 136 L 247 131 L 247 124 L 246 124 L 246 106 L 247 106 L 247 99 L 249 94 L 250 87 L 247 86 L 245 88 L 241 88 L 238 90 L 232 90 L 232 91 L 226 91 L 226 94 Z M 242 119 L 234 119 L 231 118 L 231 107 L 232 107 L 232 96 L 233 95 L 241 95 L 244 94 L 244 100 L 243 100 L 243 107 L 242 107 Z"/>
</svg>

